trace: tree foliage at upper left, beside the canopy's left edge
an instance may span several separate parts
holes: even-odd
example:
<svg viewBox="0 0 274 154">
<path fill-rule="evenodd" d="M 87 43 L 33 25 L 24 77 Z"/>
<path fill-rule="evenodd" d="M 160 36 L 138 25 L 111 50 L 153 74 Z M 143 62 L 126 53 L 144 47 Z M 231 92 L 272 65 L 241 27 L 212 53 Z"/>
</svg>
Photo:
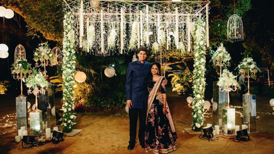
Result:
<svg viewBox="0 0 274 154">
<path fill-rule="evenodd" d="M 62 0 L 20 1 L 30 36 L 38 36 L 39 32 L 51 40 L 61 40 L 63 31 Z"/>
</svg>

